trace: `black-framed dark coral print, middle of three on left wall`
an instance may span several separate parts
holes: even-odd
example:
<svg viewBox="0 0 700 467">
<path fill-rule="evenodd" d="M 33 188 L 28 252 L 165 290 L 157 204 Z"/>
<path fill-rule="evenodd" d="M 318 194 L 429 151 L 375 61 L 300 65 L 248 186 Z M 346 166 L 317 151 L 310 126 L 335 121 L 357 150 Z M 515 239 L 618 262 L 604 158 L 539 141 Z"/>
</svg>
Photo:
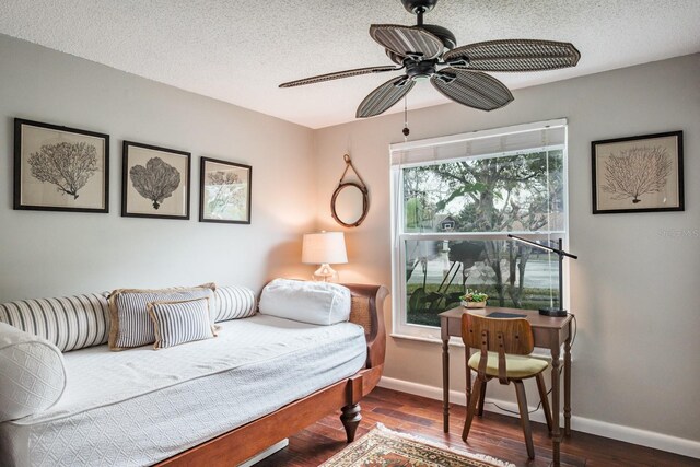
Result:
<svg viewBox="0 0 700 467">
<path fill-rule="evenodd" d="M 122 217 L 189 219 L 191 153 L 124 141 L 121 154 Z"/>
</svg>

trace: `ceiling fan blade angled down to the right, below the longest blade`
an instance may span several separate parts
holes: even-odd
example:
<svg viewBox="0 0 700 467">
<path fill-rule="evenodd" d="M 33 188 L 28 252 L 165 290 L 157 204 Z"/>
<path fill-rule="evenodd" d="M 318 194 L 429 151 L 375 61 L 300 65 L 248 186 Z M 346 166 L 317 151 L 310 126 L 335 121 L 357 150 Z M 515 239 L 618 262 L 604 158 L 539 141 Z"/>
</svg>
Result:
<svg viewBox="0 0 700 467">
<path fill-rule="evenodd" d="M 478 71 L 445 68 L 433 74 L 430 82 L 445 97 L 481 110 L 493 110 L 513 101 L 505 84 Z"/>
</svg>

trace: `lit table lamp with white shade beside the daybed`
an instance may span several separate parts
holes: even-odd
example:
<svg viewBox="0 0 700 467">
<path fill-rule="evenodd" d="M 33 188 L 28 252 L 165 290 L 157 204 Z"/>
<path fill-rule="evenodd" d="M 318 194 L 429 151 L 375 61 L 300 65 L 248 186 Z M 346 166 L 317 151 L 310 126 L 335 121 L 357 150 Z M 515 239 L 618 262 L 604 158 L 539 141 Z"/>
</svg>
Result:
<svg viewBox="0 0 700 467">
<path fill-rule="evenodd" d="M 320 265 L 314 271 L 314 280 L 324 282 L 337 281 L 338 272 L 330 265 L 348 262 L 345 234 L 342 232 L 325 231 L 304 234 L 302 262 L 305 265 Z"/>
</svg>

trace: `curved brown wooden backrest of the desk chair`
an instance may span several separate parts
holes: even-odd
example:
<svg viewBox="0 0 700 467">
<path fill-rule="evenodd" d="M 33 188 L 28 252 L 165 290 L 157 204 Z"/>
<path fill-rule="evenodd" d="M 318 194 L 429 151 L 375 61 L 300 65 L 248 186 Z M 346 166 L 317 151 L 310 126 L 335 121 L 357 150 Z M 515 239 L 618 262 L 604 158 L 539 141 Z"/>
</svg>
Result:
<svg viewBox="0 0 700 467">
<path fill-rule="evenodd" d="M 535 348 L 533 328 L 525 318 L 488 318 L 462 315 L 464 345 L 482 351 L 527 355 Z"/>
</svg>

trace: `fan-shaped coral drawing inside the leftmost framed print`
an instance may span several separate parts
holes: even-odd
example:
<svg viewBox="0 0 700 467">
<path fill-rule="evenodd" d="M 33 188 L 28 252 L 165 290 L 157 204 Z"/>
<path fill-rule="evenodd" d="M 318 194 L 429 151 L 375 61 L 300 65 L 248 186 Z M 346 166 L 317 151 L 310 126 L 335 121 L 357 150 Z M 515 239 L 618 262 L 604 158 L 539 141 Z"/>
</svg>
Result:
<svg viewBox="0 0 700 467">
<path fill-rule="evenodd" d="M 34 178 L 56 185 L 58 192 L 73 199 L 98 170 L 97 150 L 86 142 L 44 144 L 27 162 Z"/>
</svg>

